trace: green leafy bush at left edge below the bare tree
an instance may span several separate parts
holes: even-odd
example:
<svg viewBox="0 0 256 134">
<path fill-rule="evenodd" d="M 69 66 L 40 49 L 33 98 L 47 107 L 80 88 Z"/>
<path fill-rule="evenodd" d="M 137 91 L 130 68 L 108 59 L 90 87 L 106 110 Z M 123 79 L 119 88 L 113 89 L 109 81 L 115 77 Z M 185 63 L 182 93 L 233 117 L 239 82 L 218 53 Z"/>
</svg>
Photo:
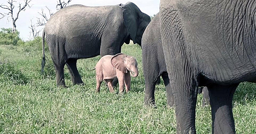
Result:
<svg viewBox="0 0 256 134">
<path fill-rule="evenodd" d="M 0 31 L 0 45 L 14 45 L 17 46 L 23 43 L 19 37 L 20 32 L 12 32 L 12 28 L 1 28 Z"/>
</svg>

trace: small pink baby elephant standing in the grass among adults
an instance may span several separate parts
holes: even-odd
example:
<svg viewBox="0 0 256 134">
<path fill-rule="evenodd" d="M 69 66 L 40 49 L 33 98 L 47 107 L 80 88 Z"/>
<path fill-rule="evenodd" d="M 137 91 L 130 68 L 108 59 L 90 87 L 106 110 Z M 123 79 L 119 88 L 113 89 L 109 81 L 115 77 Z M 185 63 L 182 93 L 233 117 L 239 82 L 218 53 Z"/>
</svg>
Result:
<svg viewBox="0 0 256 134">
<path fill-rule="evenodd" d="M 124 84 L 126 93 L 129 92 L 131 86 L 130 72 L 132 77 L 137 77 L 139 74 L 137 65 L 138 63 L 134 57 L 122 53 L 116 54 L 115 56 L 103 56 L 95 67 L 97 81 L 96 92 L 100 92 L 100 84 L 105 80 L 109 87 L 109 92 L 113 93 L 112 80 L 116 77 L 119 82 L 119 93 L 123 92 Z"/>
</svg>

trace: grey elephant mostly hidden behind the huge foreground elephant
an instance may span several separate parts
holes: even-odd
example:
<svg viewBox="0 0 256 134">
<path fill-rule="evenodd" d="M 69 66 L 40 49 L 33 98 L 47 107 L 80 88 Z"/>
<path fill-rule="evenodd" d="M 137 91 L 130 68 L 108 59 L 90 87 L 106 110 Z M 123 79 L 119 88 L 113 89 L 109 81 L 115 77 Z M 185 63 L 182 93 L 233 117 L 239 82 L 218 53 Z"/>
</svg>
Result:
<svg viewBox="0 0 256 134">
<path fill-rule="evenodd" d="M 164 60 L 164 52 L 162 48 L 159 13 L 157 13 L 145 29 L 142 41 L 142 67 L 145 79 L 145 105 L 155 105 L 155 88 L 160 80 L 160 76 L 164 80 L 166 86 L 167 105 L 174 105 L 174 97 L 169 84 L 169 77 L 166 70 L 166 62 Z M 203 105 L 209 104 L 209 94 L 207 87 L 201 87 L 198 93 L 204 93 Z"/>
</svg>

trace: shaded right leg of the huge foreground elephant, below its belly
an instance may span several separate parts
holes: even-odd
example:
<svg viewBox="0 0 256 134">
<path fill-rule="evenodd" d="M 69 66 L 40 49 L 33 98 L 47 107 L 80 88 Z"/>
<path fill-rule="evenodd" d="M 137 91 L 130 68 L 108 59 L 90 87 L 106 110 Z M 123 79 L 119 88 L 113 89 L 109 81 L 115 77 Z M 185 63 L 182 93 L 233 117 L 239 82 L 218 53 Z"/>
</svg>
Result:
<svg viewBox="0 0 256 134">
<path fill-rule="evenodd" d="M 212 109 L 212 134 L 235 134 L 233 95 L 238 84 L 211 85 L 208 88 Z"/>
</svg>

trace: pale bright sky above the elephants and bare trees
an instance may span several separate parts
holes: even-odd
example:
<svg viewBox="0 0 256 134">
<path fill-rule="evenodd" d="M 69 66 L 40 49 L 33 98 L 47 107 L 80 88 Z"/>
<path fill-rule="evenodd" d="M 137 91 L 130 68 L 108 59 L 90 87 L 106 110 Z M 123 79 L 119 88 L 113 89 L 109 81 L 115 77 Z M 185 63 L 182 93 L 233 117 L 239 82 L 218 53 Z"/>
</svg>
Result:
<svg viewBox="0 0 256 134">
<path fill-rule="evenodd" d="M 8 0 L 0 0 L 0 5 L 7 5 Z M 23 0 L 16 0 L 17 3 L 15 3 L 15 15 L 17 13 L 18 3 L 24 3 Z M 61 0 L 63 2 L 63 0 Z M 67 2 L 67 0 L 64 0 Z M 130 2 L 135 3 L 140 10 L 143 13 L 146 13 L 147 15 L 155 15 L 159 12 L 159 4 L 160 0 L 129 0 Z M 103 5 L 117 5 L 120 3 L 125 4 L 128 2 L 128 0 L 72 0 L 69 5 L 73 4 L 82 4 L 86 6 L 103 6 Z M 30 2 L 30 5 L 32 5 L 31 8 L 26 7 L 25 11 L 21 11 L 18 17 L 18 20 L 16 21 L 17 30 L 20 32 L 20 38 L 22 38 L 24 41 L 30 39 L 30 29 L 28 28 L 32 24 L 37 23 L 37 18 L 42 18 L 38 12 L 42 11 L 42 8 L 44 9 L 44 12 L 46 15 L 48 15 L 48 10 L 45 6 L 47 6 L 53 13 L 55 13 L 57 0 L 32 0 Z M 7 10 L 3 10 L 0 8 L 0 13 L 7 13 Z M 0 16 L 1 17 L 1 16 Z M 0 20 L 0 28 L 12 28 L 12 21 L 9 18 L 10 21 L 7 20 L 7 16 L 5 18 L 2 18 Z M 43 29 L 44 26 L 37 27 L 37 29 Z M 41 36 L 41 33 L 39 34 Z"/>
</svg>

